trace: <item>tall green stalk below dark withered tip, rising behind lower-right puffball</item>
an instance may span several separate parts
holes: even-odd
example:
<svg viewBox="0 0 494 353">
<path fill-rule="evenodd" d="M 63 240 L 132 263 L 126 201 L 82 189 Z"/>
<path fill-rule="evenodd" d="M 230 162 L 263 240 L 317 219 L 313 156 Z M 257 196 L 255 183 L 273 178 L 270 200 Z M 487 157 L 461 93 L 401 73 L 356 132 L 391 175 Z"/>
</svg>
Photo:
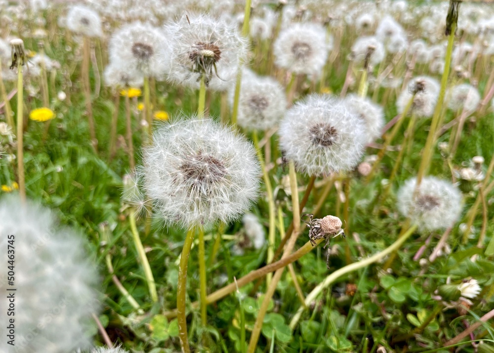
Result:
<svg viewBox="0 0 494 353">
<path fill-rule="evenodd" d="M 424 153 L 422 154 L 422 158 L 420 160 L 420 167 L 418 168 L 418 172 L 417 172 L 417 182 L 416 182 L 417 188 L 420 186 L 420 183 L 422 182 L 422 178 L 427 173 L 427 170 L 428 170 L 429 165 L 430 165 L 430 161 L 432 159 L 432 152 L 433 152 L 432 145 L 434 144 L 434 141 L 435 141 L 434 137 L 436 135 L 436 130 L 438 127 L 439 118 L 441 116 L 441 108 L 443 106 L 444 95 L 446 93 L 446 86 L 448 84 L 448 76 L 450 74 L 451 56 L 453 53 L 453 42 L 454 42 L 455 29 L 456 29 L 456 23 L 453 22 L 452 27 L 451 27 L 451 33 L 450 33 L 450 36 L 448 38 L 448 47 L 446 49 L 444 72 L 443 72 L 443 76 L 441 78 L 441 88 L 439 89 L 439 97 L 437 99 L 436 107 L 434 108 L 434 114 L 432 115 L 432 121 L 431 121 L 429 134 L 427 135 L 427 140 L 425 141 L 425 146 L 423 149 Z"/>
</svg>

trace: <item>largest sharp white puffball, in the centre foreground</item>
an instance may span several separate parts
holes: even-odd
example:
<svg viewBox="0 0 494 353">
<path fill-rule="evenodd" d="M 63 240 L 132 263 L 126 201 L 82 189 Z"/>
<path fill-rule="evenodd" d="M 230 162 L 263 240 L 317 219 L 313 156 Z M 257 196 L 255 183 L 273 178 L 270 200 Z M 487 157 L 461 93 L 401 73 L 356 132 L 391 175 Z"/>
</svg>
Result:
<svg viewBox="0 0 494 353">
<path fill-rule="evenodd" d="M 250 142 L 210 119 L 173 119 L 143 150 L 144 188 L 166 223 L 228 223 L 256 199 L 260 167 Z"/>
</svg>

